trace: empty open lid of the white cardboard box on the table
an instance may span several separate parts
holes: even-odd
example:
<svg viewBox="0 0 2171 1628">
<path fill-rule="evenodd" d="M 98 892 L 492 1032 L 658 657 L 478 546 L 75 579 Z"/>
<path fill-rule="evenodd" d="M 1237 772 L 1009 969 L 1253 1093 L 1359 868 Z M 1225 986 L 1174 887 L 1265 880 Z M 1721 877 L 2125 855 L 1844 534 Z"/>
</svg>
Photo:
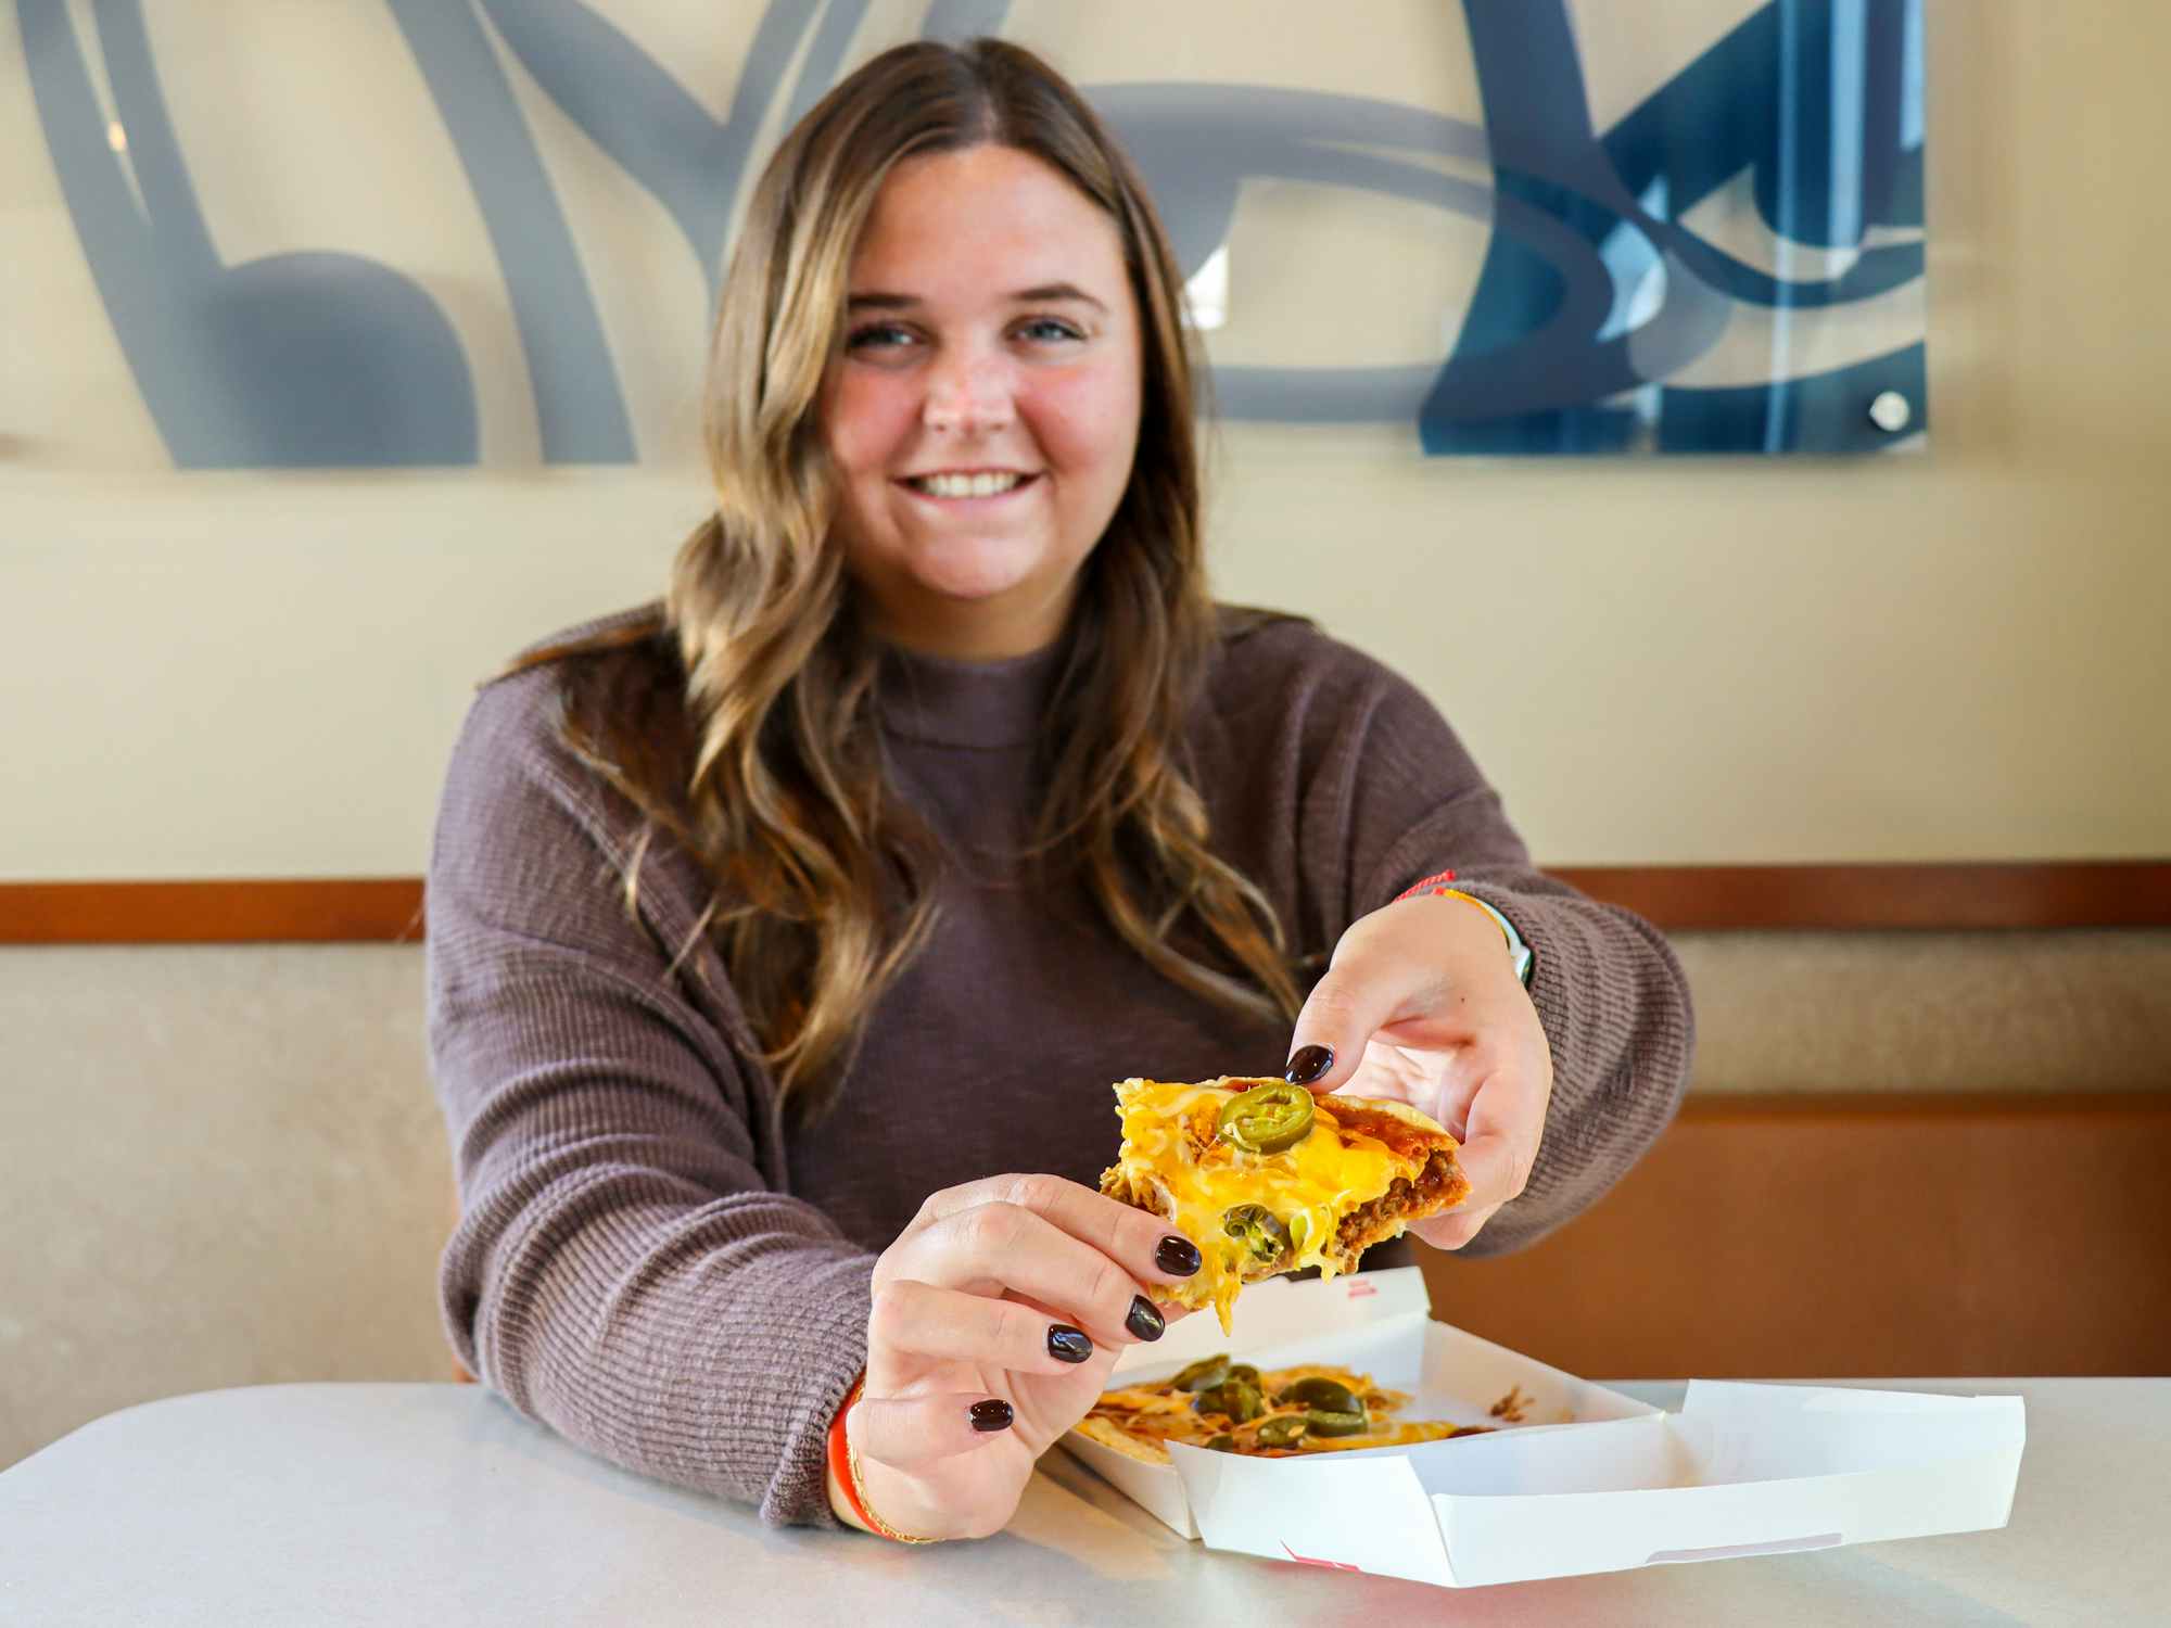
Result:
<svg viewBox="0 0 2171 1628">
<path fill-rule="evenodd" d="M 2023 1443 L 2017 1396 L 1700 1381 L 1678 1415 L 1359 1463 L 1170 1457 L 1211 1548 L 1470 1587 L 2004 1526 Z"/>
</svg>

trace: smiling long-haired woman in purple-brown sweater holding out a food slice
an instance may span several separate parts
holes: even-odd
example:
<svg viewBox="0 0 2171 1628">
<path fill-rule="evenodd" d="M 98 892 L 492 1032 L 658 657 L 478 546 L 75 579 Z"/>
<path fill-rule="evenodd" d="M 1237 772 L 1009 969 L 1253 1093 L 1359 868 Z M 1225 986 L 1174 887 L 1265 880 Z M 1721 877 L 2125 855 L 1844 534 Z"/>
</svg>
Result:
<svg viewBox="0 0 2171 1628">
<path fill-rule="evenodd" d="M 1198 1265 L 1092 1192 L 1127 1074 L 1424 1107 L 1472 1181 L 1444 1248 L 1669 1118 L 1659 936 L 1535 873 L 1407 684 L 1207 599 L 1179 310 L 1046 65 L 875 59 L 740 232 L 666 601 L 475 701 L 430 873 L 445 1318 L 595 1452 L 996 1530 Z"/>
</svg>

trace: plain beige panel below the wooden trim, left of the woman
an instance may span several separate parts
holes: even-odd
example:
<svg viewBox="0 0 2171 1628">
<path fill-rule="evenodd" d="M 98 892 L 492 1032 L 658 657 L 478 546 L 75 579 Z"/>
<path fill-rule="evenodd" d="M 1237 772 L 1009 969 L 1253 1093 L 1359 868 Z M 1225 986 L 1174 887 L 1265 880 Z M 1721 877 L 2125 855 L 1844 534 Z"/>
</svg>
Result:
<svg viewBox="0 0 2171 1628">
<path fill-rule="evenodd" d="M 130 1402 L 445 1378 L 421 949 L 0 949 L 0 1463 Z"/>
</svg>

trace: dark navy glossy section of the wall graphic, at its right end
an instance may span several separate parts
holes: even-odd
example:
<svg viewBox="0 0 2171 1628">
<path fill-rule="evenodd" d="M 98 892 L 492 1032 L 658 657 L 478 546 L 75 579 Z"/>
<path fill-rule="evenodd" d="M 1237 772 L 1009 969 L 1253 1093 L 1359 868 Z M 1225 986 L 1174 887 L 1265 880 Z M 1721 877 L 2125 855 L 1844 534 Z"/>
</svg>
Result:
<svg viewBox="0 0 2171 1628">
<path fill-rule="evenodd" d="M 1669 219 L 1750 167 L 1759 215 L 1791 243 L 1856 247 L 1869 226 L 1919 228 L 1921 0 L 1776 0 L 1604 135 L 1585 115 L 1561 0 L 1463 9 L 1496 232 L 1418 419 L 1429 451 L 1617 449 L 1637 415 L 1604 402 L 1702 354 L 1730 304 L 1813 310 L 1921 278 L 1924 247 L 1906 243 L 1865 250 L 1828 282 L 1780 282 Z M 1624 258 L 1661 260 L 1669 297 L 1643 328 L 1613 332 Z M 1843 373 L 1661 391 L 1659 445 L 1858 451 L 1884 438 L 1869 404 L 1902 389 L 1919 412 L 1921 380 L 1915 343 Z"/>
</svg>

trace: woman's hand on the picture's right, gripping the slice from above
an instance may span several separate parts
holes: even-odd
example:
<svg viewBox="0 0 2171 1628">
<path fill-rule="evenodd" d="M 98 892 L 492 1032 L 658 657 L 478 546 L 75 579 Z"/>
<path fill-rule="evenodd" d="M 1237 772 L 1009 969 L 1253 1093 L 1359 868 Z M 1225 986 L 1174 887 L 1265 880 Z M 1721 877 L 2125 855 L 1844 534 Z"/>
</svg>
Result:
<svg viewBox="0 0 2171 1628">
<path fill-rule="evenodd" d="M 1307 1046 L 1333 1051 L 1313 1079 Z M 1435 1248 L 1468 1244 L 1531 1181 L 1552 1048 L 1498 925 L 1468 899 L 1398 899 L 1353 923 L 1296 1016 L 1290 1061 L 1313 1092 L 1409 1103 L 1463 1144 L 1470 1196 L 1409 1226 Z"/>
</svg>

